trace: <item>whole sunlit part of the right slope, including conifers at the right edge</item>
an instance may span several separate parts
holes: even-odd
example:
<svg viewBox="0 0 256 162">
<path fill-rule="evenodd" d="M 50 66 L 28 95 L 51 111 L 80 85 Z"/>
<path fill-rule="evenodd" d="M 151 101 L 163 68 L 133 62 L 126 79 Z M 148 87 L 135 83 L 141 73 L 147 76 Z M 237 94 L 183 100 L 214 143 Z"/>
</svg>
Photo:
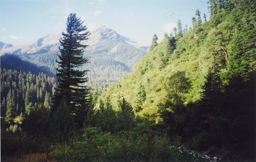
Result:
<svg viewBox="0 0 256 162">
<path fill-rule="evenodd" d="M 256 16 L 252 11 L 243 13 L 239 10 L 236 8 L 231 13 L 223 10 L 210 21 L 176 38 L 176 49 L 170 55 L 166 53 L 168 43 L 165 40 L 160 42 L 146 53 L 130 75 L 111 87 L 103 97 L 110 96 L 115 107 L 124 97 L 134 109 L 138 109 L 138 83 L 142 83 L 146 100 L 141 105 L 141 113 L 156 114 L 161 104 L 172 100 L 169 96 L 172 89 L 167 85 L 177 71 L 184 71 L 191 81 L 189 92 L 183 96 L 184 103 L 200 101 L 205 77 L 213 66 L 220 71 L 226 86 L 232 83 L 234 74 L 241 77 L 241 83 L 251 80 L 256 69 L 256 51 L 253 50 L 256 47 Z M 242 20 L 245 17 L 247 19 Z M 227 58 L 225 52 L 228 53 Z"/>
</svg>

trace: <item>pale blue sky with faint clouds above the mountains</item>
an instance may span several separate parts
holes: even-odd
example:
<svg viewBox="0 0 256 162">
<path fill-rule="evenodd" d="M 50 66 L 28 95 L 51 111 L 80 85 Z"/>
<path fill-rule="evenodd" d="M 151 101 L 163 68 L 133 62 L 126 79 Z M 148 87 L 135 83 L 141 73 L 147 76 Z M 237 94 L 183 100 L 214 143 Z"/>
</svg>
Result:
<svg viewBox="0 0 256 162">
<path fill-rule="evenodd" d="M 192 27 L 196 9 L 208 13 L 208 0 L 0 0 L 0 41 L 20 45 L 66 31 L 70 13 L 89 31 L 101 26 L 136 41 L 170 34 L 178 19 Z"/>
</svg>

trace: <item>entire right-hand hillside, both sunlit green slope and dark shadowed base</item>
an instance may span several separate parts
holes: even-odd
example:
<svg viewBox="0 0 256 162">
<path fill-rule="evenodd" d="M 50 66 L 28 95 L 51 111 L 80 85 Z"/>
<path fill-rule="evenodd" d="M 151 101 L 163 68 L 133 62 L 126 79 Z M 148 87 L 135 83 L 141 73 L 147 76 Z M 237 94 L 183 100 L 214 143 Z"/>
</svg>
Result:
<svg viewBox="0 0 256 162">
<path fill-rule="evenodd" d="M 157 45 L 153 37 L 134 72 L 103 96 L 114 109 L 124 97 L 169 134 L 193 139 L 196 149 L 223 146 L 245 155 L 255 142 L 255 2 L 219 3 L 210 1 L 212 17 L 203 24 L 196 11 L 187 33 L 179 21 L 175 36 L 165 34 Z"/>
</svg>

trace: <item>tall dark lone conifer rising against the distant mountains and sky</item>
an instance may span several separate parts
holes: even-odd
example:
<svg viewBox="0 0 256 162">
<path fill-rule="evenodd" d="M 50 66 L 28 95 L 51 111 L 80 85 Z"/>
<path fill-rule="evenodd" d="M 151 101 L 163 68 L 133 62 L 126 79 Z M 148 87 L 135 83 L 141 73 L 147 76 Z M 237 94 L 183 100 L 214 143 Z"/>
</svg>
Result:
<svg viewBox="0 0 256 162">
<path fill-rule="evenodd" d="M 54 109 L 60 105 L 62 96 L 66 95 L 67 106 L 71 108 L 77 123 L 82 125 L 86 115 L 88 88 L 83 83 L 88 79 L 85 77 L 88 70 L 80 71 L 78 68 L 84 63 L 88 63 L 88 58 L 84 58 L 84 51 L 88 45 L 82 45 L 80 42 L 88 40 L 89 32 L 83 21 L 76 17 L 76 14 L 70 14 L 67 20 L 67 33 L 62 33 L 60 39 L 60 53 L 58 55 L 58 87 L 54 94 Z"/>
</svg>

